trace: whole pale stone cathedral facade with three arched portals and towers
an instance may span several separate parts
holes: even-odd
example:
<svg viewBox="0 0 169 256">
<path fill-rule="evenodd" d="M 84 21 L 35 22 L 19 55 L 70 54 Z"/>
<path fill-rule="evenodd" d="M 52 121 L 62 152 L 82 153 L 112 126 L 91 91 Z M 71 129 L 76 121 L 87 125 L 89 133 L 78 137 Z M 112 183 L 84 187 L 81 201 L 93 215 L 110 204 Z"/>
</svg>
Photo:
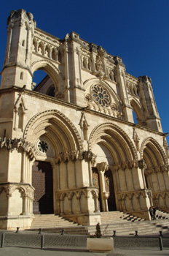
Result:
<svg viewBox="0 0 169 256">
<path fill-rule="evenodd" d="M 59 39 L 38 29 L 25 10 L 7 26 L 0 228 L 28 228 L 35 214 L 95 225 L 102 211 L 169 211 L 168 143 L 151 79 L 75 32 Z M 38 69 L 47 76 L 35 86 Z"/>
</svg>

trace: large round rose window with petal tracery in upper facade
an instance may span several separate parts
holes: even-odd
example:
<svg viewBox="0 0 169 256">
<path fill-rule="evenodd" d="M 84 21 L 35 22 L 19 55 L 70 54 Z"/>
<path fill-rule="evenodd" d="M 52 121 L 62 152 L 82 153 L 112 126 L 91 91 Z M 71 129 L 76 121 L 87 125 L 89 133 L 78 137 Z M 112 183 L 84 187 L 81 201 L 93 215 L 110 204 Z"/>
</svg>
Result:
<svg viewBox="0 0 169 256">
<path fill-rule="evenodd" d="M 108 107 L 110 105 L 109 94 L 102 86 L 92 86 L 91 91 L 96 104 L 102 107 Z"/>
</svg>

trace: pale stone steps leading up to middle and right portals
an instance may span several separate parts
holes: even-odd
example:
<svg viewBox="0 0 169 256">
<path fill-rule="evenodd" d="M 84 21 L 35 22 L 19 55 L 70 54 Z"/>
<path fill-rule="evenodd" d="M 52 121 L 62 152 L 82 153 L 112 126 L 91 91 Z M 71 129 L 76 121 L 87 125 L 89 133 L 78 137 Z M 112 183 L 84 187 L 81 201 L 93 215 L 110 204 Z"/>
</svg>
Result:
<svg viewBox="0 0 169 256">
<path fill-rule="evenodd" d="M 117 236 L 135 235 L 146 236 L 150 234 L 159 234 L 169 231 L 169 214 L 157 211 L 157 219 L 146 221 L 144 219 L 134 217 L 130 214 L 124 214 L 120 211 L 111 211 L 101 213 L 101 233 L 103 236 L 112 236 L 114 230 Z M 95 226 L 88 226 L 88 232 L 95 234 Z"/>
</svg>

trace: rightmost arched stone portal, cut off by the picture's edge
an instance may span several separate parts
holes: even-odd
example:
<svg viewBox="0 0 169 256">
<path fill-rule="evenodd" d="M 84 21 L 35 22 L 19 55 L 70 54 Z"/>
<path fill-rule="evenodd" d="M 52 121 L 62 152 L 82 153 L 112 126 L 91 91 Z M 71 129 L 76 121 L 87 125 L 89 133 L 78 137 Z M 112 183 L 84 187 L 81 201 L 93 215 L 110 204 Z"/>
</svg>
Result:
<svg viewBox="0 0 169 256">
<path fill-rule="evenodd" d="M 146 186 L 152 189 L 153 204 L 161 210 L 168 210 L 165 193 L 168 192 L 168 159 L 160 144 L 154 138 L 146 138 L 141 146 L 141 157 L 146 163 L 144 168 Z"/>
</svg>

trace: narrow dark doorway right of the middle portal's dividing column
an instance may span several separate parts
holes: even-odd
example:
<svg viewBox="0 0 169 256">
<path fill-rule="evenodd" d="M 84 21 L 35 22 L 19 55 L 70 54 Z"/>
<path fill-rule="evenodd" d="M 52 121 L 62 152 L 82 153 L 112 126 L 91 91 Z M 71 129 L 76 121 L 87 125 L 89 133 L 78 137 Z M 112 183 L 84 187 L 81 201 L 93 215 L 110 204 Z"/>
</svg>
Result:
<svg viewBox="0 0 169 256">
<path fill-rule="evenodd" d="M 117 211 L 116 197 L 114 192 L 114 181 L 111 170 L 106 170 L 104 173 L 106 191 L 110 193 L 107 200 L 109 211 Z"/>
</svg>

